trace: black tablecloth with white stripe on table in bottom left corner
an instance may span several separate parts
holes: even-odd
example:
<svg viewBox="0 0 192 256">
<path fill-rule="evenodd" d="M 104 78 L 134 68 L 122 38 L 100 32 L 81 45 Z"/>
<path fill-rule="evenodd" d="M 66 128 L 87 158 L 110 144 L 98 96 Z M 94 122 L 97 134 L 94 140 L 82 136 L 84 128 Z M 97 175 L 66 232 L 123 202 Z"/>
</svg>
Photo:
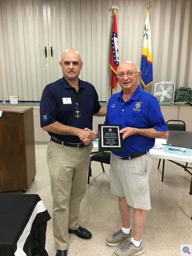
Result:
<svg viewBox="0 0 192 256">
<path fill-rule="evenodd" d="M 38 195 L 0 194 L 0 256 L 48 256 L 50 215 Z"/>
</svg>

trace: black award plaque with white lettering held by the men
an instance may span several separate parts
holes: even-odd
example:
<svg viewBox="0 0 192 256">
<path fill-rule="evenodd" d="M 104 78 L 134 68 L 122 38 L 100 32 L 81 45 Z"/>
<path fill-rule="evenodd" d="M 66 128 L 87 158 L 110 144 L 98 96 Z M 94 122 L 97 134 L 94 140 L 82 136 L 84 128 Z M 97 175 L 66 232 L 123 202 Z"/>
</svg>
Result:
<svg viewBox="0 0 192 256">
<path fill-rule="evenodd" d="M 100 151 L 123 151 L 121 125 L 98 125 L 98 128 Z"/>
</svg>

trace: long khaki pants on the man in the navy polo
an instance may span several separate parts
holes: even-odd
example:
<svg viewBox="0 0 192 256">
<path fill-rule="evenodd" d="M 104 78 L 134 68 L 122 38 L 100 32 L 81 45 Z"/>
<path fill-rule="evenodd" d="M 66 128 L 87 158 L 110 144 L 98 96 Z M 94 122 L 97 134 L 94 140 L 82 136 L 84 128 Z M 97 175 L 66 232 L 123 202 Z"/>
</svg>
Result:
<svg viewBox="0 0 192 256">
<path fill-rule="evenodd" d="M 53 236 L 58 250 L 68 248 L 68 227 L 79 227 L 79 205 L 86 192 L 91 143 L 72 148 L 49 142 L 47 163 L 53 197 Z"/>
</svg>

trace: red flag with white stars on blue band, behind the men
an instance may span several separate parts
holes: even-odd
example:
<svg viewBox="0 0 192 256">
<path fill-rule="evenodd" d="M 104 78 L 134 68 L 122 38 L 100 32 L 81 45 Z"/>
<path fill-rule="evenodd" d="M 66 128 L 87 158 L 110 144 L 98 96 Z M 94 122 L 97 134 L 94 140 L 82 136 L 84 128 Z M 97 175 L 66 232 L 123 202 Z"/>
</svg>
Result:
<svg viewBox="0 0 192 256">
<path fill-rule="evenodd" d="M 117 38 L 117 27 L 116 27 L 116 13 L 113 14 L 113 29 L 111 35 L 111 54 L 110 54 L 110 64 L 111 68 L 111 85 L 113 89 L 116 88 L 118 80 L 116 77 L 116 70 L 119 66 L 119 50 L 118 50 L 118 38 Z"/>
</svg>

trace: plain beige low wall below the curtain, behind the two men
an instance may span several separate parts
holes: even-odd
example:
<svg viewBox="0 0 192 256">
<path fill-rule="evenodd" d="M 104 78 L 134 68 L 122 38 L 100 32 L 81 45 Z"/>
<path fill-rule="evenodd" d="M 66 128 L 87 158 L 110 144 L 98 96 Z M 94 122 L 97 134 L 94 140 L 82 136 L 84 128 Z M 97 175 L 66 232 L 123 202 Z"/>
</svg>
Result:
<svg viewBox="0 0 192 256">
<path fill-rule="evenodd" d="M 24 107 L 26 108 L 26 107 Z M 23 108 L 12 107 L 12 108 L 3 108 L 1 110 L 15 110 L 20 111 Z M 192 131 L 192 107 L 161 107 L 161 111 L 165 120 L 170 119 L 180 119 L 186 122 L 186 130 Z M 39 118 L 39 107 L 34 107 L 34 130 L 35 130 L 35 143 L 36 144 L 47 144 L 50 140 L 49 134 L 46 131 L 43 131 L 40 127 L 40 118 Z M 105 117 L 93 117 L 93 130 L 96 130 L 98 124 L 102 124 L 105 121 Z"/>
</svg>

